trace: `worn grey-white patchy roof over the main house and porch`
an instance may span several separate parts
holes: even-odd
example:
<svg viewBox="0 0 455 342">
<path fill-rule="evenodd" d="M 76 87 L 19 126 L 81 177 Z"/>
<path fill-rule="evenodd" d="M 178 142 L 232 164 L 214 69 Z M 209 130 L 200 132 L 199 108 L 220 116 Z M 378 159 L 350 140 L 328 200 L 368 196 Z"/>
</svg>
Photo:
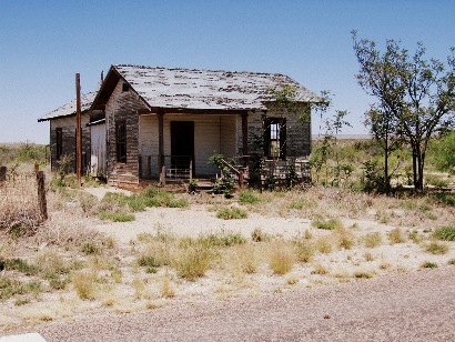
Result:
<svg viewBox="0 0 455 342">
<path fill-rule="evenodd" d="M 150 107 L 220 110 L 266 109 L 271 90 L 284 86 L 296 89 L 297 101 L 318 102 L 321 98 L 287 76 L 246 71 L 166 69 L 118 64 L 113 68 Z"/>
</svg>

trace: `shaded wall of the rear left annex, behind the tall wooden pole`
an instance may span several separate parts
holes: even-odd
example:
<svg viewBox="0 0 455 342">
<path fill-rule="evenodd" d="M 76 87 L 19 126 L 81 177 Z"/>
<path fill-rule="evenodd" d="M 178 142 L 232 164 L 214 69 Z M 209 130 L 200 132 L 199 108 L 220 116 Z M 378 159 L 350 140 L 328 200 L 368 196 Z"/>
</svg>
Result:
<svg viewBox="0 0 455 342">
<path fill-rule="evenodd" d="M 82 173 L 87 173 L 90 162 L 90 129 L 87 123 L 90 121 L 88 113 L 81 115 L 82 127 Z M 75 172 L 75 115 L 57 118 L 50 120 L 50 145 L 51 145 L 51 168 L 58 171 L 61 163 L 57 160 L 57 129 L 62 129 L 62 155 L 71 158 L 71 162 L 65 165 L 67 172 Z M 62 158 L 60 159 L 62 160 Z"/>
</svg>

